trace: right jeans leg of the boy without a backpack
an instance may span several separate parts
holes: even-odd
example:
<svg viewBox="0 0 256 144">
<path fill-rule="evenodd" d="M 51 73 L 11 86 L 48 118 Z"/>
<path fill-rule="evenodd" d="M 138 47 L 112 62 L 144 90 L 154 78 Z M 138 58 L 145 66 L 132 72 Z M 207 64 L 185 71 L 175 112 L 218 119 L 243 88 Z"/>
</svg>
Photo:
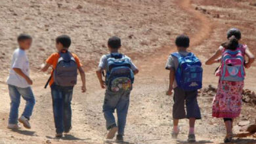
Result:
<svg viewBox="0 0 256 144">
<path fill-rule="evenodd" d="M 35 97 L 33 96 L 32 88 L 18 88 L 18 92 L 20 92 L 22 98 L 26 100 L 26 106 L 22 115 L 30 120 L 33 106 L 35 105 Z"/>
</svg>

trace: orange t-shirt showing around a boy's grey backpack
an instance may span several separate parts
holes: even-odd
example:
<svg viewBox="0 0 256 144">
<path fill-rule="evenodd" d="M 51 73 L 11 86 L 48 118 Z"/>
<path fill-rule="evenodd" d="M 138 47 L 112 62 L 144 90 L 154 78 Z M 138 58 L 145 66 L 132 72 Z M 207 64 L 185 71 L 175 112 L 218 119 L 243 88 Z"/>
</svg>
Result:
<svg viewBox="0 0 256 144">
<path fill-rule="evenodd" d="M 81 67 L 82 64 L 80 63 L 77 55 L 72 54 L 72 56 L 75 58 L 75 62 L 77 63 L 77 68 Z M 55 53 L 51 54 L 51 56 L 49 58 L 47 58 L 46 62 L 48 64 L 52 65 L 53 69 L 55 69 L 57 66 L 57 63 L 58 63 L 58 58 L 60 58 L 60 54 L 58 52 L 55 52 Z M 53 75 L 53 71 L 51 72 L 51 75 Z M 53 82 L 54 82 L 53 77 L 51 77 L 51 80 L 49 82 L 50 86 L 53 84 Z"/>
</svg>

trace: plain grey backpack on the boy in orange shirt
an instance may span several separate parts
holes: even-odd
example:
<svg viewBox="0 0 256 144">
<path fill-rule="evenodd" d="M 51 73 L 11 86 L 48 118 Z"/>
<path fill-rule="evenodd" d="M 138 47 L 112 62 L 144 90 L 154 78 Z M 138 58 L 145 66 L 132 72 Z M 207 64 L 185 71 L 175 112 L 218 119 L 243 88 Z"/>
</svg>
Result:
<svg viewBox="0 0 256 144">
<path fill-rule="evenodd" d="M 58 86 L 74 86 L 77 83 L 77 63 L 70 52 L 60 52 L 53 71 L 54 83 Z"/>
</svg>

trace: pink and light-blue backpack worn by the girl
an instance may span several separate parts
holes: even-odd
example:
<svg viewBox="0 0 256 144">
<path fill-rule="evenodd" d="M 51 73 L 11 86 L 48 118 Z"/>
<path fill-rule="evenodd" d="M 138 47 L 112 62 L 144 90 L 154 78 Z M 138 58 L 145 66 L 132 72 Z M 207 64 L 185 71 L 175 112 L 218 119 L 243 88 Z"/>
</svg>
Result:
<svg viewBox="0 0 256 144">
<path fill-rule="evenodd" d="M 240 45 L 236 50 L 223 49 L 221 81 L 244 81 L 244 49 L 244 45 Z"/>
</svg>

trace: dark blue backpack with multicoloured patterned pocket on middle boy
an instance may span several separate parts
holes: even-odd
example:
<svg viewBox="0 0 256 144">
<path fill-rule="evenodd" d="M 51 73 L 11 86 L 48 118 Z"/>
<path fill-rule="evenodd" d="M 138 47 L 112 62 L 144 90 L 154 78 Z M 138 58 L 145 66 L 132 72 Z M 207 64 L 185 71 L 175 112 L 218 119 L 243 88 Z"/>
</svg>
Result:
<svg viewBox="0 0 256 144">
<path fill-rule="evenodd" d="M 109 54 L 106 68 L 106 86 L 111 92 L 131 91 L 134 74 L 131 61 L 123 54 Z"/>
</svg>

